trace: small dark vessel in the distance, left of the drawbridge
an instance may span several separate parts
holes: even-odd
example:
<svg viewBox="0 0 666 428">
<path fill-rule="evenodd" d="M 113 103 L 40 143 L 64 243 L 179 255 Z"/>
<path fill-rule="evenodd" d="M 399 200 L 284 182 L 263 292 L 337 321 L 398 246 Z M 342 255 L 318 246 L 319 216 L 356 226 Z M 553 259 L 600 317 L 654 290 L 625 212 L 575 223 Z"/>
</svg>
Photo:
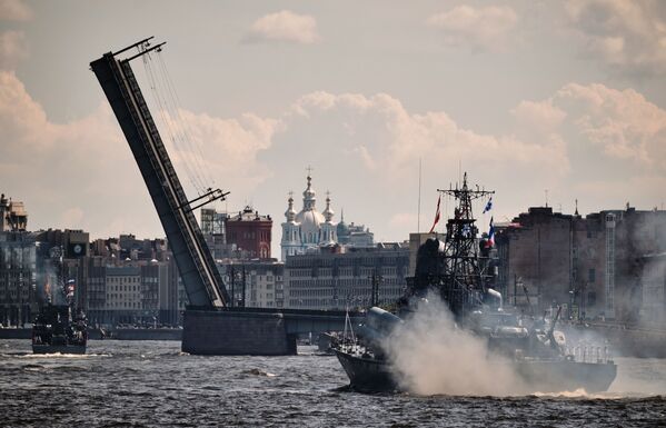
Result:
<svg viewBox="0 0 666 428">
<path fill-rule="evenodd" d="M 32 352 L 86 354 L 88 344 L 86 317 L 72 317 L 68 305 L 46 305 L 32 325 Z"/>
</svg>

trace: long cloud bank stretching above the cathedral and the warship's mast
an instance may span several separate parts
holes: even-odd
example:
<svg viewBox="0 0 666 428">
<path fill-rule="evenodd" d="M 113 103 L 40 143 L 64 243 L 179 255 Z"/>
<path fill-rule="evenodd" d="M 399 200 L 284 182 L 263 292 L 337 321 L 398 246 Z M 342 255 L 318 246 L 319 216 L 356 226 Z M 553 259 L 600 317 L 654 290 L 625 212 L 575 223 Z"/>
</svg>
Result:
<svg viewBox="0 0 666 428">
<path fill-rule="evenodd" d="M 527 143 L 511 136 L 481 135 L 460 128 L 444 111 L 409 112 L 400 100 L 386 93 L 365 97 L 314 92 L 300 98 L 294 111 L 310 123 L 332 119 L 332 123 L 320 125 L 339 128 L 331 130 L 334 135 L 344 136 L 339 138 L 339 147 L 364 162 L 366 158 L 372 159 L 380 170 L 392 171 L 391 176 L 399 180 L 404 176 L 397 172 L 411 173 L 414 162 L 424 155 L 440 165 L 454 166 L 457 159 L 450 155 L 457 153 L 474 158 L 478 167 L 490 168 L 509 160 L 515 165 L 541 159 L 540 162 L 558 165 L 560 171 L 564 166 L 566 170 L 566 153 L 560 147 Z M 305 126 L 297 118 L 287 123 L 289 128 Z"/>
</svg>

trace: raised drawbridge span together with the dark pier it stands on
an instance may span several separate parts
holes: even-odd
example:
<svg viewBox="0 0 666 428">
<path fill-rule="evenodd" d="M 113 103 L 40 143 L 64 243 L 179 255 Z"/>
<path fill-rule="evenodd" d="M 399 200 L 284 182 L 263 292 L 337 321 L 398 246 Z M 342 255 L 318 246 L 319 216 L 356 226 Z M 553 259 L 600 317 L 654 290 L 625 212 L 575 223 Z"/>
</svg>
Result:
<svg viewBox="0 0 666 428">
<path fill-rule="evenodd" d="M 287 355 L 296 352 L 299 334 L 341 330 L 345 312 L 227 306 L 227 289 L 192 213 L 227 193 L 208 188 L 192 200 L 186 197 L 130 66 L 132 60 L 150 58 L 151 52 L 161 50 L 163 43 L 150 46 L 150 39 L 105 53 L 90 67 L 141 171 L 189 298 L 182 350 L 200 355 Z"/>
</svg>

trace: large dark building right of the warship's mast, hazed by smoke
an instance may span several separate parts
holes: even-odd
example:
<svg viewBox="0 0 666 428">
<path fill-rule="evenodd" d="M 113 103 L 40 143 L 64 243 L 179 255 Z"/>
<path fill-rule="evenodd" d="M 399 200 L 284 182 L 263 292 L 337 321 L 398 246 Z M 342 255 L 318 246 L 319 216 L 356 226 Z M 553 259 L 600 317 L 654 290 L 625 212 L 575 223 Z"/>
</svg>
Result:
<svg viewBox="0 0 666 428">
<path fill-rule="evenodd" d="M 639 322 L 639 259 L 666 250 L 666 211 L 605 210 L 583 218 L 530 208 L 497 225 L 498 285 L 509 302 L 573 318 Z"/>
</svg>

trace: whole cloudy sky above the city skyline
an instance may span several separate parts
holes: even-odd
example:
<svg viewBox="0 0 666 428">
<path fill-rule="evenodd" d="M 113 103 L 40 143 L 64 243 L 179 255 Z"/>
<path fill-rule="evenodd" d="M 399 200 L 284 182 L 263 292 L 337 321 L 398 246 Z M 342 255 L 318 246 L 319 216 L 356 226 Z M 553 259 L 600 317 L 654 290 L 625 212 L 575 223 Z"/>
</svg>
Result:
<svg viewBox="0 0 666 428">
<path fill-rule="evenodd" d="M 461 171 L 496 191 L 484 223 L 666 201 L 663 1 L 0 0 L 0 192 L 29 229 L 163 236 L 89 70 L 150 36 L 171 116 L 132 67 L 187 195 L 270 215 L 274 257 L 308 167 L 317 208 L 380 241 L 427 231 Z"/>
</svg>

